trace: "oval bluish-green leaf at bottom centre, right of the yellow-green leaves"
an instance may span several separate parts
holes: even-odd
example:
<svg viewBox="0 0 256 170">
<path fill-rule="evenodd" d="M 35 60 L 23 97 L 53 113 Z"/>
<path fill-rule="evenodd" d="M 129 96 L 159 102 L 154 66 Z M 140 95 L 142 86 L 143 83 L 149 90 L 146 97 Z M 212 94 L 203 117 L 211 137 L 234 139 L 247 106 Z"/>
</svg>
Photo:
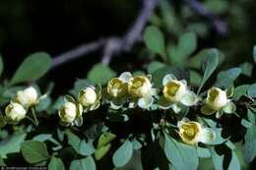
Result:
<svg viewBox="0 0 256 170">
<path fill-rule="evenodd" d="M 126 165 L 133 155 L 133 144 L 129 140 L 124 142 L 113 154 L 113 164 L 115 167 Z"/>
</svg>

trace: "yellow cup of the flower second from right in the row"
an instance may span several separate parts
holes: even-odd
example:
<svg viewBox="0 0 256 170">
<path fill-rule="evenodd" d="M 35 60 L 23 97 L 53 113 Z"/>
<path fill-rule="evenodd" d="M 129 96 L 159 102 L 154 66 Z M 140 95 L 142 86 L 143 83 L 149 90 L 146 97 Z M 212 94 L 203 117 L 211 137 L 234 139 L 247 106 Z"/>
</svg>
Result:
<svg viewBox="0 0 256 170">
<path fill-rule="evenodd" d="M 186 92 L 186 85 L 180 81 L 171 80 L 163 87 L 163 96 L 172 102 L 179 101 L 182 95 Z"/>
</svg>

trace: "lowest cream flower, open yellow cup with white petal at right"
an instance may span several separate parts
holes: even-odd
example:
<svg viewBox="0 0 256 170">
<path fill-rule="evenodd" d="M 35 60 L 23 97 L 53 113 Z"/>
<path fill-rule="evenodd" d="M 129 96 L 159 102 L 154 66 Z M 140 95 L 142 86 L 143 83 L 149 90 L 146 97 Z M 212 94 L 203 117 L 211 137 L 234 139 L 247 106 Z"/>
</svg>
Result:
<svg viewBox="0 0 256 170">
<path fill-rule="evenodd" d="M 178 128 L 181 140 L 188 144 L 213 142 L 216 138 L 216 133 L 212 129 L 202 127 L 198 122 L 186 118 L 178 122 Z"/>
</svg>

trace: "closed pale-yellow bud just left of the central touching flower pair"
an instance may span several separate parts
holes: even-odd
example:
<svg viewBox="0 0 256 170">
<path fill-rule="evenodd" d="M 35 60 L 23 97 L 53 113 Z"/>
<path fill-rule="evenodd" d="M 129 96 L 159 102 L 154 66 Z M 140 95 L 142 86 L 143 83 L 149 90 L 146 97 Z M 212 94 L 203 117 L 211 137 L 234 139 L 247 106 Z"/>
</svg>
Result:
<svg viewBox="0 0 256 170">
<path fill-rule="evenodd" d="M 95 89 L 89 86 L 86 89 L 81 90 L 78 95 L 78 100 L 85 107 L 93 105 L 96 102 Z"/>
</svg>

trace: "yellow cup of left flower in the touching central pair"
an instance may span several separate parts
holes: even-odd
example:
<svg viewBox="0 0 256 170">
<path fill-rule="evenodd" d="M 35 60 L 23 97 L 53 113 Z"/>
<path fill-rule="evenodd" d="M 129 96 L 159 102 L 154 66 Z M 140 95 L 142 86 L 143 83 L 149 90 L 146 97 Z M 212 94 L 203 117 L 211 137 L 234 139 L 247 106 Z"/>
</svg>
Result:
<svg viewBox="0 0 256 170">
<path fill-rule="evenodd" d="M 107 93 L 111 97 L 122 97 L 127 93 L 127 84 L 119 78 L 111 79 L 107 84 Z"/>
</svg>

